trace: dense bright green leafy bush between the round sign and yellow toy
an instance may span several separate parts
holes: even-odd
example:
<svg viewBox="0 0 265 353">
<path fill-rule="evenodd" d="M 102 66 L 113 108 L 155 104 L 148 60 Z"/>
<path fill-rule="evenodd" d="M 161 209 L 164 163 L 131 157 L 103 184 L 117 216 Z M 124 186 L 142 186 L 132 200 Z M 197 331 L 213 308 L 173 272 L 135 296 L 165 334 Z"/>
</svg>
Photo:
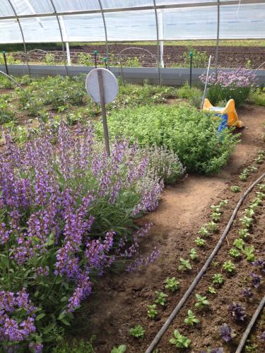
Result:
<svg viewBox="0 0 265 353">
<path fill-rule="evenodd" d="M 189 172 L 218 172 L 239 142 L 239 136 L 228 129 L 220 139 L 216 135 L 219 121 L 187 104 L 123 109 L 110 114 L 108 125 L 111 138 L 125 136 L 131 143 L 174 151 Z M 102 138 L 102 123 L 99 121 L 95 128 Z"/>
</svg>

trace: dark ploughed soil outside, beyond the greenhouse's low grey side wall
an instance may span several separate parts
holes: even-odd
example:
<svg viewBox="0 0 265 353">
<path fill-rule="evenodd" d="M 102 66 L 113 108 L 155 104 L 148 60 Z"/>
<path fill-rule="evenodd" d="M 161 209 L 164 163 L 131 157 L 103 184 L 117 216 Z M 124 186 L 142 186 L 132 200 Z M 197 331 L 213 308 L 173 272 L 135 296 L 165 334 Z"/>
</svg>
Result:
<svg viewBox="0 0 265 353">
<path fill-rule="evenodd" d="M 111 66 L 119 65 L 118 54 L 123 50 L 128 48 L 120 56 L 123 60 L 128 58 L 138 58 L 141 61 L 141 66 L 143 67 L 153 67 L 156 66 L 156 55 L 157 47 L 155 45 L 138 45 L 136 48 L 128 44 L 109 44 L 109 59 Z M 141 48 L 141 49 L 139 49 Z M 216 49 L 213 46 L 193 46 L 193 49 L 199 50 L 200 52 L 206 52 L 207 56 L 212 56 L 212 63 L 215 63 Z M 142 50 L 146 49 L 148 52 Z M 102 57 L 106 56 L 105 45 L 76 45 L 72 46 L 71 61 L 76 64 L 78 61 L 78 53 L 86 52 L 93 55 L 93 52 L 98 50 L 100 60 Z M 61 51 L 53 50 L 55 54 L 55 61 L 61 62 L 64 59 L 63 53 Z M 184 52 L 189 52 L 189 48 L 186 46 L 175 46 L 167 45 L 164 47 L 164 64 L 165 67 L 170 67 L 172 65 L 184 64 L 183 54 Z M 245 67 L 247 61 L 249 61 L 250 68 L 257 68 L 260 64 L 264 62 L 265 47 L 229 47 L 220 46 L 218 54 L 218 63 L 222 68 L 238 68 Z M 23 52 L 16 52 L 13 54 L 15 59 L 24 59 Z M 29 57 L 29 61 L 45 61 L 45 52 L 32 52 Z M 122 61 L 124 62 L 124 61 Z M 207 62 L 205 63 L 205 67 Z"/>
</svg>

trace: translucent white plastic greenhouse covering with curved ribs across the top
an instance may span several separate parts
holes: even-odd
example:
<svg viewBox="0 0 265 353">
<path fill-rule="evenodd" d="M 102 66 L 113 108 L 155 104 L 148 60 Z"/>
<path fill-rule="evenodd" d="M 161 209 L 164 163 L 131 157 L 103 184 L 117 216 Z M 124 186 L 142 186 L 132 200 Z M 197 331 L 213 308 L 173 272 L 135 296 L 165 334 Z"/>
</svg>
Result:
<svg viewBox="0 0 265 353">
<path fill-rule="evenodd" d="M 220 1 L 220 39 L 265 37 L 265 0 Z M 0 0 L 0 43 L 215 39 L 218 1 Z"/>
</svg>

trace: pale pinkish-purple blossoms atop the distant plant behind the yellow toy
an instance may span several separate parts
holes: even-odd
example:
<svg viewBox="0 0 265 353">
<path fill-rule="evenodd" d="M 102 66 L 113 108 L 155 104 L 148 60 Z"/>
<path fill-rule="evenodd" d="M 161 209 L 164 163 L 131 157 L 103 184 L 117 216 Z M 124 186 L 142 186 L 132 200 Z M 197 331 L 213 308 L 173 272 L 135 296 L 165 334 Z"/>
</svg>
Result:
<svg viewBox="0 0 265 353">
<path fill-rule="evenodd" d="M 206 73 L 203 73 L 200 77 L 202 83 L 206 81 Z M 222 88 L 230 88 L 235 90 L 236 88 L 251 87 L 255 81 L 256 76 L 246 68 L 238 68 L 236 71 L 218 71 L 218 77 L 213 72 L 208 76 L 208 85 L 220 86 Z"/>
</svg>

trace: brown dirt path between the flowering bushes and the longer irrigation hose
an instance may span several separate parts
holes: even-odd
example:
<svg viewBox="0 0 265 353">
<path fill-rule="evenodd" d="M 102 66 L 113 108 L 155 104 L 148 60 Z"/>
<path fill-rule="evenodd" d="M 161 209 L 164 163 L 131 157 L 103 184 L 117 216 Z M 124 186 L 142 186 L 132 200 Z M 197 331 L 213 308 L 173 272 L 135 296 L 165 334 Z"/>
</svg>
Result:
<svg viewBox="0 0 265 353">
<path fill-rule="evenodd" d="M 143 252 L 150 253 L 158 246 L 161 251 L 158 261 L 135 273 L 106 275 L 77 316 L 74 326 L 78 328 L 78 336 L 88 338 L 91 333 L 95 334 L 97 352 L 109 353 L 114 345 L 124 343 L 128 345 L 127 352 L 143 352 L 173 309 L 176 299 L 169 300 L 167 310 L 158 321 L 150 322 L 146 318 L 146 306 L 152 304 L 155 290 L 163 289 L 163 281 L 176 270 L 179 256 L 194 247 L 191 244 L 199 227 L 207 221 L 209 205 L 220 198 L 229 198 L 228 185 L 238 184 L 239 170 L 265 146 L 261 138 L 265 109 L 249 106 L 239 113 L 246 128 L 242 130 L 242 143 L 237 146 L 228 166 L 216 177 L 192 175 L 174 186 L 167 186 L 158 209 L 143 217 L 143 222 L 153 222 L 152 234 L 144 241 Z M 230 207 L 232 210 L 234 205 Z M 205 256 L 211 245 L 214 246 L 214 242 L 206 247 Z M 194 266 L 189 280 L 202 263 L 203 259 Z M 183 293 L 184 288 L 179 295 Z M 129 328 L 136 324 L 148 325 L 141 342 L 128 335 Z"/>
</svg>

